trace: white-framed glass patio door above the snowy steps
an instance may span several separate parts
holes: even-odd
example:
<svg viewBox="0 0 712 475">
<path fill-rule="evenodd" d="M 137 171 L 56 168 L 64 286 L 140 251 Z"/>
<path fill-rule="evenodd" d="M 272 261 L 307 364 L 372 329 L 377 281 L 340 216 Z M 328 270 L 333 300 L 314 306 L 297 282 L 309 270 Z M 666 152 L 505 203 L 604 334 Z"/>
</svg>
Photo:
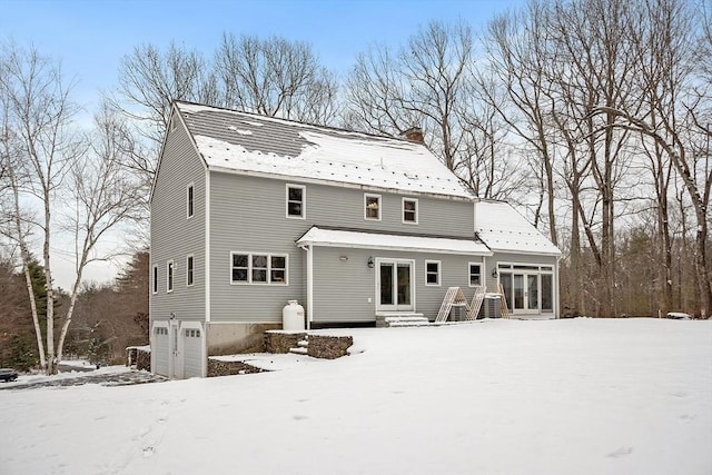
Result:
<svg viewBox="0 0 712 475">
<path fill-rule="evenodd" d="M 376 311 L 415 309 L 415 264 L 409 259 L 376 259 Z"/>
</svg>

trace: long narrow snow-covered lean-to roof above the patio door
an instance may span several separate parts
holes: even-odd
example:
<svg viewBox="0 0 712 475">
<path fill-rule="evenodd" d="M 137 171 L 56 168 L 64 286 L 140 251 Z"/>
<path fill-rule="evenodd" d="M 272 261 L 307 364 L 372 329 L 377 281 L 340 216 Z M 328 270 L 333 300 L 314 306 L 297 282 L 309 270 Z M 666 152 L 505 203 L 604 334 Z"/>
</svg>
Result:
<svg viewBox="0 0 712 475">
<path fill-rule="evenodd" d="M 312 227 L 297 245 L 355 247 L 360 249 L 408 250 L 416 253 L 469 254 L 492 256 L 487 246 L 473 239 L 400 236 Z"/>
</svg>

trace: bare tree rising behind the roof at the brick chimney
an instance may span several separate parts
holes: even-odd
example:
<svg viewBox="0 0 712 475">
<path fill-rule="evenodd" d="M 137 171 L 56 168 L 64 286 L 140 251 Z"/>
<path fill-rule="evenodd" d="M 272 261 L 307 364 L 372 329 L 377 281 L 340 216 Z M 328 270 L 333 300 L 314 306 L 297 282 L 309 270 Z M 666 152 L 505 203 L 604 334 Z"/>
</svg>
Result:
<svg viewBox="0 0 712 475">
<path fill-rule="evenodd" d="M 464 133 L 457 108 L 464 106 L 472 31 L 465 23 L 431 22 L 397 52 L 372 47 L 358 56 L 346 82 L 348 127 L 398 136 L 413 126 L 426 133 L 431 149 L 453 171 L 464 166 Z"/>
</svg>

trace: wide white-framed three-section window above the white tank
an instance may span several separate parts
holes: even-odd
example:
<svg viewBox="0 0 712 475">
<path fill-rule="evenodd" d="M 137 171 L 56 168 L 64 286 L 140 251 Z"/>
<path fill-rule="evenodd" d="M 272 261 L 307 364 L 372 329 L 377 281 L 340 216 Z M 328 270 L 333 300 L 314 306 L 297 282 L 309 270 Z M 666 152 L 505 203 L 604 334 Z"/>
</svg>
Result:
<svg viewBox="0 0 712 475">
<path fill-rule="evenodd" d="M 233 284 L 287 284 L 285 254 L 230 253 Z"/>
</svg>

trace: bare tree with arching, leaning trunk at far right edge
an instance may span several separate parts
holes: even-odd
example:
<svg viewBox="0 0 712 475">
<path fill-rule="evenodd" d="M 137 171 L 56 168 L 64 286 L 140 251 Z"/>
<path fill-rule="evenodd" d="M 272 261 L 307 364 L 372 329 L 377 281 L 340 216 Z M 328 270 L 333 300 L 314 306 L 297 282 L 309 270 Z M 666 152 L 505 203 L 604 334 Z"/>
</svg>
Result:
<svg viewBox="0 0 712 475">
<path fill-rule="evenodd" d="M 636 44 L 637 59 L 649 55 L 655 61 L 642 68 L 637 75 L 645 95 L 641 108 L 629 105 L 609 107 L 601 105 L 593 115 L 606 115 L 613 120 L 606 122 L 609 129 L 620 128 L 646 137 L 653 147 L 664 151 L 683 181 L 696 218 L 695 267 L 700 293 L 701 313 L 706 314 L 712 300 L 710 269 L 706 259 L 708 206 L 712 189 L 712 167 L 709 166 L 709 150 L 704 144 L 710 131 L 699 123 L 705 102 L 690 95 L 695 81 L 694 48 L 704 43 L 703 37 L 695 38 L 695 28 L 688 3 L 678 0 L 656 0 L 645 3 L 646 30 Z M 640 24 L 631 26 L 636 28 Z M 704 29 L 702 29 L 704 31 Z M 698 70 L 699 71 L 699 70 Z M 692 101 L 688 98 L 692 97 Z M 698 142 L 695 144 L 695 138 Z M 663 214 L 663 217 L 666 212 Z M 665 253 L 670 251 L 670 231 L 665 222 L 662 234 Z M 668 235 L 668 236 L 665 236 Z M 668 280 L 669 276 L 665 276 Z M 669 289 L 668 291 L 671 291 Z"/>
</svg>

